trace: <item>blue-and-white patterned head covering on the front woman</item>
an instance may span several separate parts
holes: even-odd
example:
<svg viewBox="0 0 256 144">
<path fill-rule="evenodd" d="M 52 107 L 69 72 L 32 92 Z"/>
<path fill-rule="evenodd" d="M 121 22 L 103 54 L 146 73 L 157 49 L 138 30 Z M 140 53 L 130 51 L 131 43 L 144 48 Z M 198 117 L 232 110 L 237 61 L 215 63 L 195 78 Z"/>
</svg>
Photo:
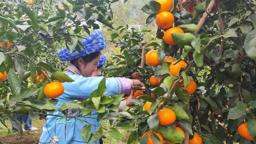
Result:
<svg viewBox="0 0 256 144">
<path fill-rule="evenodd" d="M 88 53 L 83 48 L 81 48 L 81 54 L 79 54 L 79 52 L 76 49 L 74 49 L 72 53 L 70 53 L 67 48 L 59 49 L 57 50 L 57 55 L 59 59 L 62 62 L 70 61 L 73 59 L 77 59 L 79 57 L 84 57 L 85 55 L 99 52 L 100 50 L 106 47 L 106 42 L 100 29 L 96 29 L 90 35 L 81 39 L 81 42 L 84 44 Z"/>
</svg>

